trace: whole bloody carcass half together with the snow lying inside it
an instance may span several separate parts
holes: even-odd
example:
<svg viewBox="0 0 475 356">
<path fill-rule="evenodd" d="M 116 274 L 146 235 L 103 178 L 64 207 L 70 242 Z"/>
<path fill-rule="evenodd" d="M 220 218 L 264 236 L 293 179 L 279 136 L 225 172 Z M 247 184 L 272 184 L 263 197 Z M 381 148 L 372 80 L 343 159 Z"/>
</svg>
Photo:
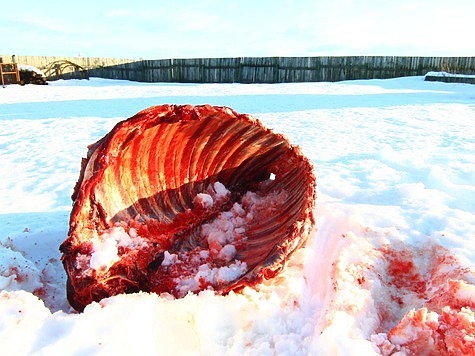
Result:
<svg viewBox="0 0 475 356">
<path fill-rule="evenodd" d="M 209 105 L 146 109 L 83 159 L 60 247 L 68 300 L 82 310 L 119 293 L 223 294 L 272 278 L 312 229 L 315 186 L 299 148 L 249 115 Z M 248 209 L 243 238 L 223 245 L 200 235 L 236 204 L 245 210 L 248 192 L 265 203 Z"/>
</svg>

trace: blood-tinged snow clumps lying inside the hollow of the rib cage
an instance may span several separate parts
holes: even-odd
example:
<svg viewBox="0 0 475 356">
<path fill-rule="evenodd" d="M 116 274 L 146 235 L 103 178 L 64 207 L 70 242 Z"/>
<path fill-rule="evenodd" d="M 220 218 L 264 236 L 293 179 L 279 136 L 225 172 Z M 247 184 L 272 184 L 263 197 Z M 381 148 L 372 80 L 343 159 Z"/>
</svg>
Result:
<svg viewBox="0 0 475 356">
<path fill-rule="evenodd" d="M 227 201 L 230 195 L 231 192 L 222 183 L 215 182 L 206 192 L 197 194 L 193 203 L 209 209 L 216 203 Z M 198 246 L 177 253 L 165 249 L 163 261 L 156 268 L 156 274 L 160 275 L 160 284 L 156 288 L 163 290 L 153 291 L 184 297 L 190 291 L 214 290 L 219 285 L 237 280 L 248 271 L 246 263 L 235 258 L 247 240 L 247 224 L 251 224 L 265 211 L 270 214 L 275 209 L 281 209 L 286 197 L 285 191 L 265 196 L 247 192 L 241 203 L 235 202 L 229 210 L 222 211 L 215 219 L 201 226 L 199 240 L 202 242 Z M 132 258 L 136 258 L 137 250 L 149 249 L 149 236 L 139 235 L 140 228 L 147 223 L 153 222 L 139 223 L 134 220 L 129 223 L 131 226 L 117 223 L 87 241 L 92 243 L 91 254 L 79 254 L 76 261 L 82 270 L 81 275 L 87 277 L 94 270 L 99 279 L 101 275 L 107 277 L 105 273 L 110 267 L 121 258 L 129 258 L 129 252 Z"/>
</svg>

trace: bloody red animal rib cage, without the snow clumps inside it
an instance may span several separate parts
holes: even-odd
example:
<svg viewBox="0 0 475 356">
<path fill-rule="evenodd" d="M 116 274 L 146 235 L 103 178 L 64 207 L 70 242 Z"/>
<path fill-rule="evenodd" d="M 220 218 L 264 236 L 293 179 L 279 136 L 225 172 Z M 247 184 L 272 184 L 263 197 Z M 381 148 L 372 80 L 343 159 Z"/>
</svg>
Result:
<svg viewBox="0 0 475 356">
<path fill-rule="evenodd" d="M 288 193 L 280 211 L 246 226 L 248 240 L 236 258 L 248 270 L 216 292 L 275 276 L 314 225 L 311 163 L 298 147 L 249 115 L 209 105 L 162 105 L 118 123 L 83 159 L 69 234 L 60 246 L 70 304 L 82 310 L 92 301 L 138 290 L 174 294 L 150 277 L 163 248 L 141 252 L 140 263 L 124 258 L 102 276 L 82 275 L 78 258 L 91 254 L 91 239 L 124 222 L 158 222 L 175 248 L 200 244 L 196 229 L 223 207 L 195 214 L 193 199 L 214 182 L 231 191 L 228 206 L 249 190 Z M 186 234 L 188 242 L 181 241 Z"/>
</svg>

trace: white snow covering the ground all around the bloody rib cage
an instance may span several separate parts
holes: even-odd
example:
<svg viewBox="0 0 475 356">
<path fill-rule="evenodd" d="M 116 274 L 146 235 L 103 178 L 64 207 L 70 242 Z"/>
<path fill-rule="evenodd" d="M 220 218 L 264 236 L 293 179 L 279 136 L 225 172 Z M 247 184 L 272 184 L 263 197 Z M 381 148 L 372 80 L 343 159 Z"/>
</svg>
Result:
<svg viewBox="0 0 475 356">
<path fill-rule="evenodd" d="M 316 229 L 284 272 L 257 289 L 119 295 L 75 313 L 58 247 L 81 157 L 115 123 L 162 103 L 230 106 L 301 146 L 318 177 Z M 475 347 L 473 85 L 423 77 L 274 85 L 91 78 L 0 89 L 0 121 L 2 355 Z M 214 191 L 200 201 L 227 194 Z M 240 223 L 234 231 L 244 234 Z M 95 243 L 108 253 L 87 261 L 91 267 L 107 268 L 120 244 L 140 243 L 133 233 L 110 233 L 110 245 Z M 216 239 L 231 258 L 229 237 Z M 164 263 L 177 259 L 165 255 Z M 200 273 L 229 280 L 241 267 L 205 265 Z"/>
</svg>

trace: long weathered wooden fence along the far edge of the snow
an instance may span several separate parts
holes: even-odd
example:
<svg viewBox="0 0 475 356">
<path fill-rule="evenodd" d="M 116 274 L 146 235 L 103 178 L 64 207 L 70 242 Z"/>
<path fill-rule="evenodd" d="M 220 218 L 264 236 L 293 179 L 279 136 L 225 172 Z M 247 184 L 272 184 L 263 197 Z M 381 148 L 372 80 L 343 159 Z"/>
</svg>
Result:
<svg viewBox="0 0 475 356">
<path fill-rule="evenodd" d="M 57 57 L 51 57 L 58 60 Z M 139 82 L 289 83 L 335 82 L 425 75 L 429 71 L 475 74 L 475 57 L 235 57 L 157 60 L 63 58 L 84 70 L 52 75 L 100 77 Z M 20 63 L 22 57 L 17 58 Z M 52 61 L 50 61 L 52 62 Z M 32 62 L 25 63 L 35 65 Z M 39 66 L 45 67 L 47 63 Z"/>
</svg>

